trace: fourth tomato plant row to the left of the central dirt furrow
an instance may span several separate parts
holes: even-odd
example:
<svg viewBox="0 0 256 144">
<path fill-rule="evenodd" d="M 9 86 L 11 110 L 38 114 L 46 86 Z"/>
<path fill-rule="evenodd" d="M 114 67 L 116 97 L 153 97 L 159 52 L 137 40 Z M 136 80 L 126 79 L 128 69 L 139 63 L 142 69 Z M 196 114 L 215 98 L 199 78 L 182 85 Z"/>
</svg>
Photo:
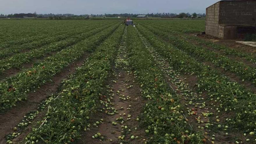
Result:
<svg viewBox="0 0 256 144">
<path fill-rule="evenodd" d="M 101 24 L 103 26 L 103 23 Z M 85 25 L 79 28 L 72 28 L 64 31 L 56 31 L 55 35 L 46 38 L 40 38 L 39 40 L 34 40 L 33 42 L 26 43 L 23 45 L 14 45 L 9 48 L 3 49 L 0 51 L 0 59 L 6 58 L 7 56 L 12 56 L 14 54 L 20 53 L 22 51 L 29 51 L 31 49 L 36 49 L 42 47 L 47 44 L 51 44 L 53 42 L 58 42 L 60 40 L 65 40 L 73 35 L 79 35 L 83 33 L 83 31 L 89 29 L 95 29 L 97 27 L 93 27 L 93 25 Z M 47 35 L 47 34 L 46 34 Z M 49 46 L 49 45 L 48 45 Z"/>
</svg>

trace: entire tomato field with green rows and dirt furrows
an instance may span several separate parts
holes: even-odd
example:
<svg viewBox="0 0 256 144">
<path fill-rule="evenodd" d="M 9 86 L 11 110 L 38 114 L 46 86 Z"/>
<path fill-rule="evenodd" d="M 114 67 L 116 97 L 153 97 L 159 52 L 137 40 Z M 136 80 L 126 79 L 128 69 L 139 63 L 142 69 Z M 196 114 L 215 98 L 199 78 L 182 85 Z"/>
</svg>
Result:
<svg viewBox="0 0 256 144">
<path fill-rule="evenodd" d="M 134 24 L 1 20 L 0 143 L 256 143 L 252 47 L 195 36 L 204 19 Z"/>
</svg>

